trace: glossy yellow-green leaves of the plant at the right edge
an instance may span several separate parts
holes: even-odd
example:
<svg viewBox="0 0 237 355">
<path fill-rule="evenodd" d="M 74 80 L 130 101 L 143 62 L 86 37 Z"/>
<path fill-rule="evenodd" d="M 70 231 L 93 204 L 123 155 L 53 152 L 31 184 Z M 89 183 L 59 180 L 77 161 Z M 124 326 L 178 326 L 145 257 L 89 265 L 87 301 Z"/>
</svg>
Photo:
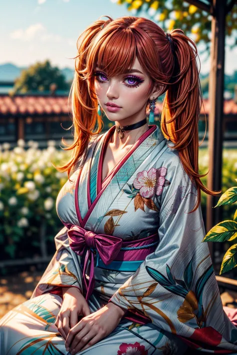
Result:
<svg viewBox="0 0 237 355">
<path fill-rule="evenodd" d="M 237 179 L 235 179 L 237 181 Z M 226 190 L 220 196 L 216 206 L 235 204 L 237 201 L 237 187 Z M 236 208 L 236 207 L 235 207 Z M 227 220 L 216 224 L 205 235 L 202 242 L 224 242 L 232 241 L 237 238 L 237 209 L 235 210 L 233 220 Z M 230 271 L 237 266 L 237 244 L 232 245 L 224 254 L 220 275 Z"/>
</svg>

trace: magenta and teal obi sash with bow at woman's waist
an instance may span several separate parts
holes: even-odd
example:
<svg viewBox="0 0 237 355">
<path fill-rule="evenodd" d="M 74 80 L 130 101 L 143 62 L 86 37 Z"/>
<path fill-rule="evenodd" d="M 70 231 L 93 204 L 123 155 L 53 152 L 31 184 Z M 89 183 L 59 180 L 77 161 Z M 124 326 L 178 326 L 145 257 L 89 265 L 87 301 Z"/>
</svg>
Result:
<svg viewBox="0 0 237 355">
<path fill-rule="evenodd" d="M 86 301 L 94 289 L 94 267 L 136 271 L 159 243 L 158 233 L 138 240 L 124 241 L 107 234 L 96 234 L 77 225 L 70 225 L 67 236 L 71 250 L 79 256 L 84 256 L 82 281 Z M 89 281 L 85 277 L 88 265 Z"/>
</svg>

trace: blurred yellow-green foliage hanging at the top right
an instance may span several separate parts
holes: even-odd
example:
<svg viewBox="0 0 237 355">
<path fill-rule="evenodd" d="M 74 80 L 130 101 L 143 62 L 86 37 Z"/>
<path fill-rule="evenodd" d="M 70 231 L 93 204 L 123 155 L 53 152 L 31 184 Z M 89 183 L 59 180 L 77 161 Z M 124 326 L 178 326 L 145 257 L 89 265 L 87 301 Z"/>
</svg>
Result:
<svg viewBox="0 0 237 355">
<path fill-rule="evenodd" d="M 208 12 L 183 0 L 117 0 L 116 3 L 125 4 L 128 10 L 134 11 L 135 16 L 140 16 L 140 12 L 145 11 L 165 31 L 181 28 L 188 36 L 194 34 L 196 43 L 205 44 L 201 53 L 206 53 L 206 58 L 209 57 L 211 15 Z M 237 4 L 234 4 L 226 16 L 227 36 L 237 29 L 236 12 Z M 236 40 L 229 48 L 232 49 L 235 45 Z"/>
</svg>

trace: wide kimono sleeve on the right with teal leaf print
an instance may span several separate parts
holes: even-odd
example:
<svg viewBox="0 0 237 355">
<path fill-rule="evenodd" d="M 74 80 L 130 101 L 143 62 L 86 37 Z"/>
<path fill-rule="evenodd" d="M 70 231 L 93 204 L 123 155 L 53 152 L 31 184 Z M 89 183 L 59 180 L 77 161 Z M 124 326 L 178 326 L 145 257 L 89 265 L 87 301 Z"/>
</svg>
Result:
<svg viewBox="0 0 237 355">
<path fill-rule="evenodd" d="M 188 214 L 197 191 L 177 156 L 163 165 L 170 184 L 159 196 L 159 244 L 109 302 L 138 309 L 157 327 L 183 337 L 201 339 L 208 326 L 208 336 L 218 343 L 223 333 L 230 338 L 231 324 L 223 313 L 208 245 L 202 243 L 200 204 Z"/>
</svg>

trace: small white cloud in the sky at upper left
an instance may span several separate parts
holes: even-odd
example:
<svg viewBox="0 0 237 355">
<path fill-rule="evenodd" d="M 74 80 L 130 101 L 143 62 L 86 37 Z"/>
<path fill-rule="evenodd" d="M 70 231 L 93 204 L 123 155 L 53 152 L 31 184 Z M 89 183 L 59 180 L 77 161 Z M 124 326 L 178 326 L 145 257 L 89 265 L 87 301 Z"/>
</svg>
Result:
<svg viewBox="0 0 237 355">
<path fill-rule="evenodd" d="M 63 38 L 58 34 L 48 33 L 47 29 L 42 25 L 42 23 L 31 24 L 26 29 L 16 29 L 10 33 L 10 38 L 19 39 L 21 41 L 31 41 L 34 38 L 41 42 L 60 42 Z"/>
</svg>

